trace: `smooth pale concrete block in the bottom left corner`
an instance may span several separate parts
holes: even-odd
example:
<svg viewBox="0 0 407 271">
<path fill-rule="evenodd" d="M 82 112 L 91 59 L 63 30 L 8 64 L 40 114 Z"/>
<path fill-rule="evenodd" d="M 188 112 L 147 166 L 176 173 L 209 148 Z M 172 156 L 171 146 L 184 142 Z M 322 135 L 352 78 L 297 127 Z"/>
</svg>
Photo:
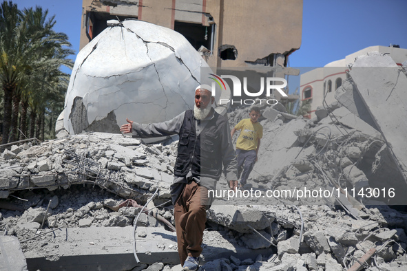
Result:
<svg viewBox="0 0 407 271">
<path fill-rule="evenodd" d="M 0 236 L 0 269 L 10 271 L 28 270 L 27 261 L 17 237 Z"/>
</svg>

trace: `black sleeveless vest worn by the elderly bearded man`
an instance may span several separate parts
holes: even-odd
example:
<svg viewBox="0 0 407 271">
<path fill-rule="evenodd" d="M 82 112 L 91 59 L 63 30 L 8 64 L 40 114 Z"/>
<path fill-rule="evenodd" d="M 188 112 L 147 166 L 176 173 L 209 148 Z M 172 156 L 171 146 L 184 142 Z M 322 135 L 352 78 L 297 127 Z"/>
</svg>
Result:
<svg viewBox="0 0 407 271">
<path fill-rule="evenodd" d="M 221 137 L 225 136 L 227 118 L 214 112 L 214 116 L 200 135 L 196 135 L 194 111 L 185 111 L 180 129 L 178 155 L 174 175 L 185 177 L 189 171 L 194 176 L 210 177 L 218 180 L 222 173 Z M 226 135 L 227 136 L 227 135 Z"/>
</svg>

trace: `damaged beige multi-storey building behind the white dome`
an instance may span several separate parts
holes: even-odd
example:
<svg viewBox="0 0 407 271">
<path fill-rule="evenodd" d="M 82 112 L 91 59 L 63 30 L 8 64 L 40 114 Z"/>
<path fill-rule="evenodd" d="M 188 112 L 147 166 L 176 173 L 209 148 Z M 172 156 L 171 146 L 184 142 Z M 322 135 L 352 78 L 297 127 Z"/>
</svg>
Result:
<svg viewBox="0 0 407 271">
<path fill-rule="evenodd" d="M 211 67 L 286 67 L 301 45 L 302 0 L 83 0 L 82 6 L 81 49 L 117 18 L 180 32 Z"/>
</svg>

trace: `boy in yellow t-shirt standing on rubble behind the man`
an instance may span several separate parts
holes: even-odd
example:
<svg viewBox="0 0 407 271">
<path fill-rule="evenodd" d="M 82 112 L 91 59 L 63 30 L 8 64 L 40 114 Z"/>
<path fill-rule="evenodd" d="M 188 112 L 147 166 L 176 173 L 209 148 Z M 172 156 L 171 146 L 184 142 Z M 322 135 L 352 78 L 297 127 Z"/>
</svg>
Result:
<svg viewBox="0 0 407 271">
<path fill-rule="evenodd" d="M 239 188 L 242 188 L 247 183 L 247 178 L 253 169 L 254 163 L 258 160 L 260 138 L 263 137 L 263 127 L 258 123 L 260 108 L 252 107 L 249 116 L 250 118 L 240 120 L 231 131 L 231 136 L 233 137 L 236 130 L 241 130 L 238 142 L 236 142 L 238 175 L 242 173 Z"/>
</svg>

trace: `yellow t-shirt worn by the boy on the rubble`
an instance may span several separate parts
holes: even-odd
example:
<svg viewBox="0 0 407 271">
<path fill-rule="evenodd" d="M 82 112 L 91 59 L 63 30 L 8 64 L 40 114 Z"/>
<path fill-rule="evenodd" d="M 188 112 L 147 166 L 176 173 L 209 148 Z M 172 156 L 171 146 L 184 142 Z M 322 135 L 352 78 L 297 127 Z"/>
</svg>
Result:
<svg viewBox="0 0 407 271">
<path fill-rule="evenodd" d="M 236 149 L 251 151 L 257 149 L 258 139 L 263 137 L 263 127 L 259 122 L 251 122 L 250 118 L 240 120 L 235 126 L 240 131 Z"/>
</svg>

